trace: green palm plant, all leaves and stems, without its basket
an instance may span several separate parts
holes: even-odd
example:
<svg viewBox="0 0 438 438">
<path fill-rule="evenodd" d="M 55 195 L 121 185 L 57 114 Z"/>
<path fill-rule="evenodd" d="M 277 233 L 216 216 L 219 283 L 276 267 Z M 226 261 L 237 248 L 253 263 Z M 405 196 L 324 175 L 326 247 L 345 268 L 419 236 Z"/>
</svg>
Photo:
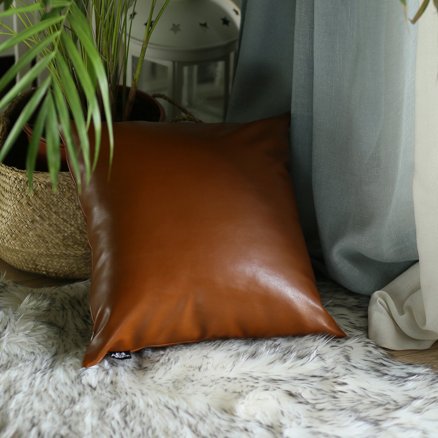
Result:
<svg viewBox="0 0 438 438">
<path fill-rule="evenodd" d="M 78 170 L 71 134 L 71 121 L 74 122 L 88 179 L 99 155 L 102 120 L 107 122 L 109 148 L 113 150 L 112 123 L 132 120 L 148 41 L 168 3 L 166 0 L 156 13 L 156 0 L 152 0 L 138 65 L 132 85 L 127 88 L 127 63 L 130 62 L 127 57 L 137 0 L 33 0 L 32 4 L 22 0 L 0 0 L 5 9 L 0 13 L 0 20 L 16 15 L 24 25 L 24 30 L 17 33 L 0 22 L 0 28 L 4 29 L 2 33 L 9 36 L 0 45 L 0 55 L 18 43 L 24 42 L 28 46 L 27 52 L 0 78 L 0 93 L 32 60 L 38 60 L 0 100 L 0 112 L 37 78 L 45 76 L 10 127 L 0 149 L 2 162 L 23 128 L 32 120 L 26 159 L 30 191 L 43 134 L 48 169 L 56 190 L 62 148 L 58 124 L 64 132 L 71 164 Z M 146 97 L 146 100 L 151 99 Z M 89 152 L 87 132 L 90 124 L 95 128 L 94 156 Z M 81 189 L 80 180 L 78 189 Z"/>
</svg>

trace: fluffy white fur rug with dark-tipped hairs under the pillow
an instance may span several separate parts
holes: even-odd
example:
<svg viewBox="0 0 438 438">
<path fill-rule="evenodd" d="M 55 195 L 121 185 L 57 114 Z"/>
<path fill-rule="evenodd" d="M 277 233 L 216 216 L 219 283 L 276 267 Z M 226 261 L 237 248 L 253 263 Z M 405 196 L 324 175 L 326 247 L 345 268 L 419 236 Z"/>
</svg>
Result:
<svg viewBox="0 0 438 438">
<path fill-rule="evenodd" d="M 367 339 L 368 297 L 318 284 L 347 339 L 208 341 L 85 369 L 89 286 L 0 282 L 0 437 L 438 436 L 438 374 Z"/>
</svg>

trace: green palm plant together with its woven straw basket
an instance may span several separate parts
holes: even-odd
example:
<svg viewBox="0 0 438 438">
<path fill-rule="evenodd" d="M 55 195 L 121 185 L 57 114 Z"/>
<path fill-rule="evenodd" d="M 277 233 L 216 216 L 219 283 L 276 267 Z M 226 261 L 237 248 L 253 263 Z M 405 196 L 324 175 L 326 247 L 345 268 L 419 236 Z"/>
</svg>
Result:
<svg viewBox="0 0 438 438">
<path fill-rule="evenodd" d="M 4 6 L 0 32 L 7 36 L 0 55 L 17 44 L 28 47 L 0 78 L 0 257 L 11 265 L 53 277 L 89 276 L 91 254 L 76 187 L 68 173 L 60 172 L 59 131 L 71 166 L 78 170 L 81 153 L 89 180 L 102 130 L 109 134 L 105 136 L 109 144 L 102 147 L 112 152 L 113 122 L 136 119 L 141 112 L 138 79 L 149 38 L 168 3 L 155 8 L 156 0 L 151 1 L 141 55 L 127 88 L 137 0 L 0 0 Z M 22 31 L 4 23 L 13 16 L 21 21 Z M 17 74 L 19 80 L 8 89 Z M 38 88 L 29 92 L 37 78 Z M 27 123 L 32 124 L 32 135 L 24 142 Z M 73 143 L 72 123 L 81 140 L 80 151 Z M 90 125 L 95 148 L 89 145 Z M 34 173 L 42 137 L 49 172 Z M 5 165 L 8 154 L 8 159 L 12 154 L 23 157 L 22 167 Z M 81 183 L 86 181 L 78 181 L 78 190 Z"/>
</svg>

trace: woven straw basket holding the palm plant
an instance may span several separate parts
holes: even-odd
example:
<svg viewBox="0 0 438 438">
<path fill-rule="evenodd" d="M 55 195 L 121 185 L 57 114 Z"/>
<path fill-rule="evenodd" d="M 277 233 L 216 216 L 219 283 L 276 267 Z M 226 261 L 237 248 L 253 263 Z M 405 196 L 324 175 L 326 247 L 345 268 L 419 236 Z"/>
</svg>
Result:
<svg viewBox="0 0 438 438">
<path fill-rule="evenodd" d="M 0 147 L 19 96 L 0 117 Z M 33 195 L 25 170 L 0 163 L 0 258 L 16 268 L 57 278 L 87 278 L 91 253 L 85 220 L 70 173 L 61 172 L 57 193 L 48 172 L 35 172 Z"/>
</svg>

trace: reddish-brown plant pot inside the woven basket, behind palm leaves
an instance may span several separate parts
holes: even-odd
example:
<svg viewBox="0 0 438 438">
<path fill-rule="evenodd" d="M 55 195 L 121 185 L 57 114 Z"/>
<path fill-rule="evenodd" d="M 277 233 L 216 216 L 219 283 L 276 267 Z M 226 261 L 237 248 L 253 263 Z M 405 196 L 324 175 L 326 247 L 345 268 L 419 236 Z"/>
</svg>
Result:
<svg viewBox="0 0 438 438">
<path fill-rule="evenodd" d="M 126 88 L 127 94 L 129 93 L 130 88 Z M 119 96 L 121 95 L 122 86 L 118 86 L 118 92 Z M 150 117 L 144 117 L 136 116 L 135 107 L 144 107 L 148 109 L 148 114 Z M 145 120 L 145 119 L 148 120 Z M 134 108 L 130 117 L 130 120 L 145 120 L 145 121 L 152 121 L 152 122 L 165 122 L 166 119 L 166 112 L 164 111 L 164 108 L 156 100 L 153 98 L 150 94 L 145 93 L 143 91 L 137 90 L 137 94 L 135 95 L 135 102 L 134 102 Z M 32 127 L 29 124 L 25 124 L 25 127 L 23 128 L 25 133 L 27 134 L 28 141 L 30 141 L 32 137 Z M 61 170 L 68 171 L 67 166 L 67 156 L 65 154 L 65 147 L 64 143 L 60 143 L 60 155 L 61 155 Z M 38 148 L 38 154 L 37 154 L 37 167 L 38 169 L 45 169 L 47 167 L 47 146 L 46 146 L 46 139 L 44 137 L 41 137 L 39 141 L 39 148 Z"/>
</svg>

